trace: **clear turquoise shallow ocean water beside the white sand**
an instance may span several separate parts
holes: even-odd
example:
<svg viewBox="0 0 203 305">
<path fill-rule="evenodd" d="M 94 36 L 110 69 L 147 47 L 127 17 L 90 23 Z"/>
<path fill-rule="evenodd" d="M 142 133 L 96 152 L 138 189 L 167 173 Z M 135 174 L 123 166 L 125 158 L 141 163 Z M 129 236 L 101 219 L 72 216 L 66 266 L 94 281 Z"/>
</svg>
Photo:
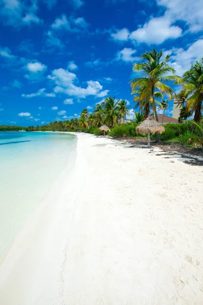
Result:
<svg viewBox="0 0 203 305">
<path fill-rule="evenodd" d="M 0 132 L 0 263 L 76 149 L 63 133 Z"/>
</svg>

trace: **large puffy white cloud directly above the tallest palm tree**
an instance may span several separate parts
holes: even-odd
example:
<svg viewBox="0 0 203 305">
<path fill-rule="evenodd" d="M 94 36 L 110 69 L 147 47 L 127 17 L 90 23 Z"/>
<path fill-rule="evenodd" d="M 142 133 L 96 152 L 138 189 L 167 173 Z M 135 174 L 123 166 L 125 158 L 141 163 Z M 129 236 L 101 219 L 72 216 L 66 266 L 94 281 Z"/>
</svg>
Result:
<svg viewBox="0 0 203 305">
<path fill-rule="evenodd" d="M 161 44 L 166 39 L 175 39 L 182 35 L 179 26 L 171 25 L 171 20 L 166 17 L 152 18 L 142 27 L 129 35 L 129 39 L 136 40 L 138 43 Z"/>
</svg>

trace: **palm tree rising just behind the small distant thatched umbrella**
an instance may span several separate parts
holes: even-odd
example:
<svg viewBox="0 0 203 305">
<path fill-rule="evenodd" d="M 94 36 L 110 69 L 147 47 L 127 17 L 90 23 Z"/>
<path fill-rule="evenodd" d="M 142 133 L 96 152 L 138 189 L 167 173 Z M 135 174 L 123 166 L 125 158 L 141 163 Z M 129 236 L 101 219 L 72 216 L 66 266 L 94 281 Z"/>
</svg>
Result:
<svg viewBox="0 0 203 305">
<path fill-rule="evenodd" d="M 109 96 L 105 99 L 105 102 L 102 105 L 104 106 L 105 123 L 108 126 L 114 127 L 120 116 L 120 112 L 118 110 L 118 102 L 115 102 L 115 97 L 112 98 L 111 96 Z"/>
</svg>

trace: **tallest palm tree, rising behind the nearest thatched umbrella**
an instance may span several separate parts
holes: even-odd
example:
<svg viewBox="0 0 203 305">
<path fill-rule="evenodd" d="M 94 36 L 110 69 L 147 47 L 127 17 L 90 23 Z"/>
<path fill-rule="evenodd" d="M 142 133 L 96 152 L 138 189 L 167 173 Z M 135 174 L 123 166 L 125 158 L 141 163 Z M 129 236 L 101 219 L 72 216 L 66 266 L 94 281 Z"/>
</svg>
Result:
<svg viewBox="0 0 203 305">
<path fill-rule="evenodd" d="M 170 55 L 167 55 L 163 60 L 161 60 L 162 55 L 162 51 L 158 53 L 155 49 L 142 54 L 141 59 L 145 60 L 145 62 L 141 64 L 133 64 L 133 71 L 142 71 L 143 77 L 137 77 L 130 81 L 132 92 L 136 89 L 143 89 L 141 100 L 144 100 L 146 97 L 149 99 L 149 96 L 152 97 L 152 109 L 157 121 L 158 115 L 154 96 L 155 89 L 158 89 L 160 92 L 168 95 L 172 99 L 174 90 L 165 83 L 168 81 L 180 82 L 180 78 L 174 75 L 176 71 L 167 64 Z M 168 73 L 173 73 L 173 75 L 168 75 Z M 159 137 L 157 134 L 156 141 L 158 140 Z"/>
</svg>

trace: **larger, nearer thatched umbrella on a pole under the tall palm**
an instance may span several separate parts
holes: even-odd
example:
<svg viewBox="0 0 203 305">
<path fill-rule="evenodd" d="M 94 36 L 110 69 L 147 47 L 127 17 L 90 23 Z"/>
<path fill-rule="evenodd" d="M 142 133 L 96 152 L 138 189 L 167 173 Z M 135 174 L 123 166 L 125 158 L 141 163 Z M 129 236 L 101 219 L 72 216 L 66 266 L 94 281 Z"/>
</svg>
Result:
<svg viewBox="0 0 203 305">
<path fill-rule="evenodd" d="M 150 132 L 155 134 L 159 132 L 162 134 L 165 131 L 165 128 L 158 124 L 153 116 L 146 118 L 138 127 L 136 127 L 136 132 L 139 134 L 148 134 L 147 136 L 147 147 L 150 147 Z"/>
</svg>

